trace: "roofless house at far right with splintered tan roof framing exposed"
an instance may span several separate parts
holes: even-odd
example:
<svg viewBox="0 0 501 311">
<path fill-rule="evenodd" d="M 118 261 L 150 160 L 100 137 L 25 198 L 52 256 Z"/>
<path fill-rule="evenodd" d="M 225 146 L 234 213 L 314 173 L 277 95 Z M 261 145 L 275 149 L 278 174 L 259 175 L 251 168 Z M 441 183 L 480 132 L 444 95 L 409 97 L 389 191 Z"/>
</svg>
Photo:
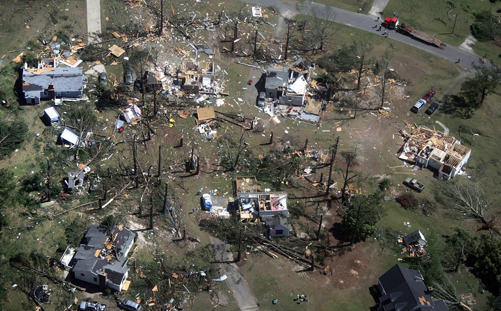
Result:
<svg viewBox="0 0 501 311">
<path fill-rule="evenodd" d="M 399 159 L 432 168 L 440 179 L 456 176 L 471 154 L 471 149 L 461 145 L 457 139 L 426 127 L 404 135 L 404 141 Z"/>
</svg>

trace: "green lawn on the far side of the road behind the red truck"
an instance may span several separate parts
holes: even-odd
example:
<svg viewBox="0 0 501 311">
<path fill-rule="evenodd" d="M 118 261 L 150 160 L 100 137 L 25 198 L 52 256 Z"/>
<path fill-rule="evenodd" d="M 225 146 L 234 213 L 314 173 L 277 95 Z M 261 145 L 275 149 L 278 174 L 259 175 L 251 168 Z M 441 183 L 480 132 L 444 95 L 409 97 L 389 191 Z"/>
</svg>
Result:
<svg viewBox="0 0 501 311">
<path fill-rule="evenodd" d="M 400 18 L 400 23 L 404 22 L 416 29 L 436 35 L 448 44 L 460 45 L 470 34 L 470 24 L 474 21 L 472 13 L 475 10 L 495 12 L 499 8 L 501 4 L 491 4 L 489 1 L 390 0 L 384 10 L 384 17 L 396 14 Z M 454 15 L 457 15 L 457 20 Z M 452 28 L 454 28 L 453 34 Z"/>
</svg>

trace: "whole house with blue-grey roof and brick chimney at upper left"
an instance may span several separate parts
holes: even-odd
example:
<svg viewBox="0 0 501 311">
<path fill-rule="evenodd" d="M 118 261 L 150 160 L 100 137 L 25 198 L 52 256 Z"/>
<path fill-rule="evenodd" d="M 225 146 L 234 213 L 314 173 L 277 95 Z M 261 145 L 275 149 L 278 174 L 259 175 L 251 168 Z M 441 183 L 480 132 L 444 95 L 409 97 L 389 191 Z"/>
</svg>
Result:
<svg viewBox="0 0 501 311">
<path fill-rule="evenodd" d="M 26 104 L 40 100 L 79 100 L 87 83 L 81 68 L 23 70 L 23 96 Z"/>
</svg>

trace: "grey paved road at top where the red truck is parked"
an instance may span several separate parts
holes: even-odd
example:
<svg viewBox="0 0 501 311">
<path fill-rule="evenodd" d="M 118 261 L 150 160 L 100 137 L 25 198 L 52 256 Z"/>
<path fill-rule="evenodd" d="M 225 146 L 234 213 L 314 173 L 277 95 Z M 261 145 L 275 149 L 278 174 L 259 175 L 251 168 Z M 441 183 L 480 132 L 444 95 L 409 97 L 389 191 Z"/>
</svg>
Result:
<svg viewBox="0 0 501 311">
<path fill-rule="evenodd" d="M 350 12 L 334 7 L 329 7 L 323 4 L 318 4 L 314 2 L 309 2 L 308 5 L 306 5 L 304 8 L 302 8 L 300 11 L 296 9 L 296 4 L 295 2 L 288 1 L 287 4 L 282 3 L 280 0 L 243 0 L 244 2 L 247 3 L 252 3 L 252 4 L 257 4 L 261 6 L 274 6 L 278 8 L 280 12 L 284 10 L 289 10 L 292 12 L 304 14 L 304 15 L 314 15 L 313 10 L 316 10 L 317 12 L 327 12 L 327 10 L 332 10 L 334 14 L 331 14 L 330 20 L 336 23 L 348 25 L 351 27 L 355 27 L 361 30 L 366 30 L 369 32 L 373 32 L 375 34 L 378 34 L 382 37 L 382 31 L 377 32 L 376 29 L 372 28 L 376 24 L 376 20 L 374 16 L 370 15 L 362 15 L 358 14 L 355 12 Z M 322 14 L 317 14 L 317 16 L 321 16 Z M 384 30 L 384 28 L 383 28 Z M 460 59 L 460 66 L 463 66 L 467 69 L 472 69 L 471 64 L 472 63 L 478 63 L 479 61 L 479 56 L 476 54 L 473 54 L 463 47 L 456 47 L 456 46 L 447 46 L 445 49 L 440 49 L 438 47 L 432 46 L 427 44 L 426 42 L 418 41 L 412 37 L 405 36 L 403 34 L 397 33 L 393 30 L 389 32 L 389 37 L 388 38 L 381 38 L 381 40 L 396 40 L 402 43 L 405 43 L 407 45 L 414 46 L 416 48 L 419 48 L 421 50 L 425 50 L 427 52 L 430 52 L 434 55 L 437 55 L 439 57 L 445 58 L 447 60 L 452 61 L 455 63 Z"/>
</svg>

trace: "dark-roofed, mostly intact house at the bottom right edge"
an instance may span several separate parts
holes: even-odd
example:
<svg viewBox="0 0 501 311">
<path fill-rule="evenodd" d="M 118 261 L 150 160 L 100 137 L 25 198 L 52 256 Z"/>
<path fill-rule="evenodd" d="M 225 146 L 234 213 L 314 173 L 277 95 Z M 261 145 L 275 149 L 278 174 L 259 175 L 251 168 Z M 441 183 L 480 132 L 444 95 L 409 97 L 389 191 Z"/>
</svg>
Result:
<svg viewBox="0 0 501 311">
<path fill-rule="evenodd" d="M 378 311 L 448 311 L 442 299 L 432 299 L 423 280 L 419 270 L 393 266 L 379 278 Z"/>
</svg>

